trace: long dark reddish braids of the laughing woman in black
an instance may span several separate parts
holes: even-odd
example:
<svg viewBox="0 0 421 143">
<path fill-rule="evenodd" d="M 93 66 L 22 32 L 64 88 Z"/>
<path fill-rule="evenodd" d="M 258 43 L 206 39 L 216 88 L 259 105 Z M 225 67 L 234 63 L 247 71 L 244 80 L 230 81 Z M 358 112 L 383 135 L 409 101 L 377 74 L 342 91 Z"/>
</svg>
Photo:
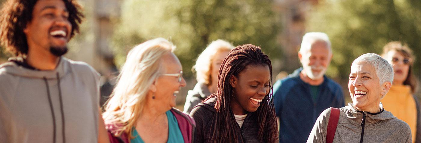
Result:
<svg viewBox="0 0 421 143">
<path fill-rule="evenodd" d="M 230 109 L 230 96 L 234 96 L 233 88 L 229 84 L 231 76 L 238 76 L 248 65 L 267 65 L 270 71 L 270 92 L 264 97 L 257 111 L 259 125 L 258 139 L 261 142 L 278 142 L 278 130 L 272 100 L 272 64 L 269 57 L 264 54 L 260 47 L 251 44 L 237 46 L 222 62 L 218 74 L 218 89 L 206 100 L 216 97 L 216 113 L 212 119 L 213 128 L 210 142 L 225 143 L 239 142 L 236 134 L 237 122 L 232 116 Z"/>
</svg>

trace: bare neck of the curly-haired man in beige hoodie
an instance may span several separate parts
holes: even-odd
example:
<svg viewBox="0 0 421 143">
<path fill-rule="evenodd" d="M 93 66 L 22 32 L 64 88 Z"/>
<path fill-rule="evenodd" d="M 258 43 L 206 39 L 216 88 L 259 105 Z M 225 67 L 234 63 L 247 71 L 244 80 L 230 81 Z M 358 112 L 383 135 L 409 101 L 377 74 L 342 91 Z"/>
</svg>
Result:
<svg viewBox="0 0 421 143">
<path fill-rule="evenodd" d="M 29 46 L 26 61 L 28 65 L 38 70 L 54 70 L 59 63 L 59 59 L 48 50 L 35 50 Z"/>
</svg>

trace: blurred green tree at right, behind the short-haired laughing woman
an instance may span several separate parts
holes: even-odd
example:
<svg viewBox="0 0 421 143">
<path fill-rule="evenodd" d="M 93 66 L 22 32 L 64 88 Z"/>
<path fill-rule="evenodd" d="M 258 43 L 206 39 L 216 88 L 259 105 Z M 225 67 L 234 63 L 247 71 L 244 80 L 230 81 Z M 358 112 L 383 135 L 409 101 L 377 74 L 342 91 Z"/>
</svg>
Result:
<svg viewBox="0 0 421 143">
<path fill-rule="evenodd" d="M 326 32 L 332 42 L 331 77 L 347 80 L 352 61 L 365 53 L 381 54 L 383 46 L 400 40 L 416 56 L 420 75 L 420 0 L 325 0 L 309 13 L 308 31 Z"/>
</svg>

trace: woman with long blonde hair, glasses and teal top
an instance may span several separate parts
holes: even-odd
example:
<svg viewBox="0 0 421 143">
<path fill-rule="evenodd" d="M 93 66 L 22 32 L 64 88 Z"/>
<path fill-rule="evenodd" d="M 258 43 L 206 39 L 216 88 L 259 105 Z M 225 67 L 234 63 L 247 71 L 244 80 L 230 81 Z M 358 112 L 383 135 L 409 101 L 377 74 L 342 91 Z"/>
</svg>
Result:
<svg viewBox="0 0 421 143">
<path fill-rule="evenodd" d="M 163 38 L 134 47 L 102 114 L 111 142 L 189 143 L 195 122 L 173 108 L 186 82 L 175 46 Z"/>
</svg>

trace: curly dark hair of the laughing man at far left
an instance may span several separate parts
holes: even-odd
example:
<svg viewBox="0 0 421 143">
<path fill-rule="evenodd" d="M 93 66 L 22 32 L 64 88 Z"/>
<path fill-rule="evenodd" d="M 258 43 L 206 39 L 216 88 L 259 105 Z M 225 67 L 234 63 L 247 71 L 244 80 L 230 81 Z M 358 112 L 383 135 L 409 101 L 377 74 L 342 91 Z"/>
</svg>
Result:
<svg viewBox="0 0 421 143">
<path fill-rule="evenodd" d="M 0 13 L 0 40 L 6 51 L 15 56 L 28 53 L 27 37 L 24 28 L 32 20 L 32 12 L 38 0 L 7 0 Z M 79 32 L 79 24 L 85 17 L 77 0 L 63 0 L 69 11 L 69 22 L 72 24 L 70 38 Z"/>
</svg>

